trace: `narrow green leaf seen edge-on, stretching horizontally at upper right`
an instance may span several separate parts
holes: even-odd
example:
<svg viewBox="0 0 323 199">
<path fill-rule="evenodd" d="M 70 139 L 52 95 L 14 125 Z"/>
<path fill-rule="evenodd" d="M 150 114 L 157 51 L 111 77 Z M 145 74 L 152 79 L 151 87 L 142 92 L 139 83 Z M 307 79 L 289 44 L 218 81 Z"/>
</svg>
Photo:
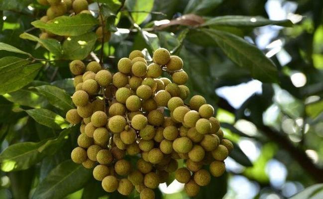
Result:
<svg viewBox="0 0 323 199">
<path fill-rule="evenodd" d="M 235 27 L 259 27 L 264 25 L 280 25 L 291 27 L 293 26 L 292 21 L 289 19 L 286 20 L 270 20 L 262 16 L 240 16 L 240 15 L 226 15 L 226 16 L 217 16 L 207 20 L 201 26 L 235 26 Z"/>
</svg>

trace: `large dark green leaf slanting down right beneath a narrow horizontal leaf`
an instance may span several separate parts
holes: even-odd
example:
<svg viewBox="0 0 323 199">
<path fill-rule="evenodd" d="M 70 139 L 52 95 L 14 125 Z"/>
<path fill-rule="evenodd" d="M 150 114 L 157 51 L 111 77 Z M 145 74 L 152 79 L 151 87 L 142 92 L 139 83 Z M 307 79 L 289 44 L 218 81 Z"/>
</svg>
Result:
<svg viewBox="0 0 323 199">
<path fill-rule="evenodd" d="M 278 81 L 275 64 L 256 46 L 231 33 L 214 29 L 202 29 L 202 31 L 212 37 L 233 62 L 242 68 L 247 68 L 253 78 L 264 83 Z"/>
</svg>

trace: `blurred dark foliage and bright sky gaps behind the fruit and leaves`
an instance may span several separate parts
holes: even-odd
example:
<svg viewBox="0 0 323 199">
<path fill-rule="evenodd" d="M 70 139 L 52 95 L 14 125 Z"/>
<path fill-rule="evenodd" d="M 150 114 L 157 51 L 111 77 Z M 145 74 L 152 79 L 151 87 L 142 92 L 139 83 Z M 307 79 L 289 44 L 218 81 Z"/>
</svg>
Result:
<svg viewBox="0 0 323 199">
<path fill-rule="evenodd" d="M 108 28 L 113 34 L 104 46 L 93 43 L 90 51 L 94 49 L 94 53 L 100 54 L 103 47 L 105 66 L 113 72 L 117 60 L 134 49 L 145 49 L 149 56 L 161 46 L 178 54 L 190 77 L 191 94 L 203 95 L 215 106 L 225 137 L 235 143 L 235 150 L 225 161 L 226 175 L 213 179 L 197 198 L 285 199 L 308 187 L 307 192 L 293 199 L 323 198 L 323 186 L 319 184 L 323 183 L 322 0 L 99 1 L 107 4 L 106 14 L 111 17 Z M 110 14 L 123 3 L 116 16 Z M 98 9 L 97 3 L 90 4 L 90 9 Z M 30 118 L 29 113 L 19 111 L 41 107 L 64 115 L 64 110 L 55 108 L 35 87 L 53 85 L 73 94 L 68 60 L 87 53 L 68 53 L 58 60 L 57 55 L 32 39 L 23 39 L 24 32 L 38 36 L 39 29 L 31 22 L 43 16 L 45 10 L 34 0 L 0 0 L 0 42 L 38 59 L 57 60 L 46 62 L 30 84 L 0 96 L 1 150 L 14 143 L 64 138 L 64 131 L 59 134 L 60 128 L 49 128 Z M 225 15 L 228 18 L 212 21 Z M 235 21 L 230 18 L 232 15 L 250 17 L 241 20 L 237 17 Z M 264 22 L 254 16 L 280 22 Z M 241 38 L 264 54 L 246 45 L 247 42 L 241 43 Z M 76 45 L 70 42 L 65 45 Z M 277 71 L 264 55 L 273 61 Z M 0 51 L 0 58 L 6 56 L 26 58 Z M 0 73 L 3 75 L 1 68 Z M 4 84 L 3 80 L 1 83 Z M 116 194 L 106 195 L 100 182 L 92 179 L 88 171 L 74 168 L 68 161 L 77 137 L 75 128 L 68 130 L 68 141 L 55 142 L 54 152 L 47 149 L 44 154 L 34 154 L 37 158 L 30 167 L 12 171 L 1 157 L 0 199 L 31 198 L 40 182 L 51 183 L 46 176 L 66 176 L 69 170 L 76 175 L 65 182 L 65 192 L 57 197 L 120 198 Z M 69 184 L 77 185 L 68 189 Z M 182 189 L 177 182 L 168 187 L 163 184 L 157 196 L 188 198 Z"/>
</svg>

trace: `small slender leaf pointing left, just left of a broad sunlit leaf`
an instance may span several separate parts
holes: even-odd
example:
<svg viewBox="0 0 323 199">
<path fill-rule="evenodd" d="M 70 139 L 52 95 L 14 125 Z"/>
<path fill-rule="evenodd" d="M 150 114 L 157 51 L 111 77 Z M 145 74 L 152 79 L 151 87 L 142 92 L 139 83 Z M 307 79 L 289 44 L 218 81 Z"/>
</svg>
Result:
<svg viewBox="0 0 323 199">
<path fill-rule="evenodd" d="M 39 42 L 44 48 L 46 48 L 49 52 L 52 52 L 54 55 L 58 57 L 62 54 L 62 46 L 56 39 L 40 39 L 32 34 L 29 33 L 22 33 L 19 35 L 22 39 L 29 39 L 31 41 Z"/>
</svg>

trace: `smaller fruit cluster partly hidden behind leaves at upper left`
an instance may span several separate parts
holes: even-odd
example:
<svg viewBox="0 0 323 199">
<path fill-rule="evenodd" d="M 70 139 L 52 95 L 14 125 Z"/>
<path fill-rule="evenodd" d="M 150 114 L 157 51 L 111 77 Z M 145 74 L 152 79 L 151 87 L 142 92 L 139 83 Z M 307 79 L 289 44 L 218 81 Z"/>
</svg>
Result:
<svg viewBox="0 0 323 199">
<path fill-rule="evenodd" d="M 54 18 L 62 15 L 75 15 L 75 14 L 91 14 L 91 11 L 88 9 L 90 3 L 93 0 L 37 0 L 39 4 L 49 6 L 46 10 L 46 15 L 40 18 L 44 23 L 50 23 Z M 100 22 L 100 26 L 96 29 L 96 34 L 98 36 L 98 41 L 107 42 L 111 33 L 104 28 L 103 24 L 105 23 L 105 19 L 102 16 L 98 16 L 98 20 Z M 50 31 L 41 29 L 42 33 L 40 33 L 40 39 L 48 39 L 54 38 L 57 40 L 63 40 L 64 37 L 55 35 Z"/>
</svg>

